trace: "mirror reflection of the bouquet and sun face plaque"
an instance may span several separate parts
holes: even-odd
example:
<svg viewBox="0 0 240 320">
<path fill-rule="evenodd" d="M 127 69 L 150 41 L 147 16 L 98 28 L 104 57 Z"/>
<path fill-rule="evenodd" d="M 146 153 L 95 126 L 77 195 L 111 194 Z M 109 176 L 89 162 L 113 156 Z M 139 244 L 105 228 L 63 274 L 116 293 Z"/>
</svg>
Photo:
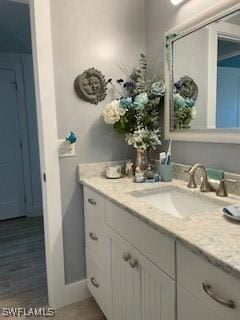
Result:
<svg viewBox="0 0 240 320">
<path fill-rule="evenodd" d="M 198 95 L 197 85 L 188 76 L 174 84 L 174 129 L 189 129 L 196 117 L 195 103 Z"/>
</svg>

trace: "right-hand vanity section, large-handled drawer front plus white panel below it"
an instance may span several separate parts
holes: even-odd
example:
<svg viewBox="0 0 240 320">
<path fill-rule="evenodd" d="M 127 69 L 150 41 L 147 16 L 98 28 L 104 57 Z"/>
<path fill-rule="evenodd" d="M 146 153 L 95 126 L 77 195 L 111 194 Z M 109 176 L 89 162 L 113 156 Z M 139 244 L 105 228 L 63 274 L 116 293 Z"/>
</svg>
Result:
<svg viewBox="0 0 240 320">
<path fill-rule="evenodd" d="M 240 281 L 177 244 L 178 320 L 239 320 Z"/>
</svg>

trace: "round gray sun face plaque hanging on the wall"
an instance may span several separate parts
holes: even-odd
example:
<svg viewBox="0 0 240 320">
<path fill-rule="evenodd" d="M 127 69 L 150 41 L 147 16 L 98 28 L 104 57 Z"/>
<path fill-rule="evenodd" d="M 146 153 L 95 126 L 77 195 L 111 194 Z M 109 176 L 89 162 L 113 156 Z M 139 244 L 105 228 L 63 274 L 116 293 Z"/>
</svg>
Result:
<svg viewBox="0 0 240 320">
<path fill-rule="evenodd" d="M 77 95 L 90 103 L 98 104 L 107 95 L 107 84 L 101 71 L 95 68 L 85 70 L 74 81 Z"/>
</svg>

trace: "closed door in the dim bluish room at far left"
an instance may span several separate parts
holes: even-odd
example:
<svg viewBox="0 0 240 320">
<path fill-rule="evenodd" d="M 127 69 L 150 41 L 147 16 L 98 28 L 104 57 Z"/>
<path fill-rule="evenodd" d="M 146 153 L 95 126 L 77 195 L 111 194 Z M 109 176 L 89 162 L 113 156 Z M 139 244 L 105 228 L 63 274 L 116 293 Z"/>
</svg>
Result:
<svg viewBox="0 0 240 320">
<path fill-rule="evenodd" d="M 25 215 L 15 71 L 0 68 L 0 220 Z"/>
</svg>

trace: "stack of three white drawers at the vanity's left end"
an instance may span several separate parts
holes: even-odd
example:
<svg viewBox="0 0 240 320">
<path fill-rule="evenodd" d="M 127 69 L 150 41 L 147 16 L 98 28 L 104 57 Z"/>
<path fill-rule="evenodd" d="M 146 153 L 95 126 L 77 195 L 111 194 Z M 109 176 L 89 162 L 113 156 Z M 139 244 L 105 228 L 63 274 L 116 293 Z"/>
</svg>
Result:
<svg viewBox="0 0 240 320">
<path fill-rule="evenodd" d="M 87 286 L 108 319 L 111 313 L 105 200 L 96 192 L 84 187 L 84 218 Z"/>
</svg>

